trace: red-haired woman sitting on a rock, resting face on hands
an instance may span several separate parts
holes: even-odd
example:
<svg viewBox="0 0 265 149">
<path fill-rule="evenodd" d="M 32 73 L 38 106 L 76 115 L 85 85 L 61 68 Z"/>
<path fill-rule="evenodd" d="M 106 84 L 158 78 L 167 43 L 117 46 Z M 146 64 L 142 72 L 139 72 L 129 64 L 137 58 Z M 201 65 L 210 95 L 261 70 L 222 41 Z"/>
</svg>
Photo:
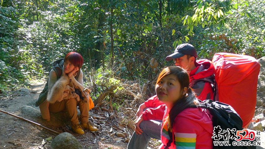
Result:
<svg viewBox="0 0 265 149">
<path fill-rule="evenodd" d="M 83 57 L 77 52 L 70 52 L 64 59 L 53 63 L 48 84 L 43 92 L 47 98 L 38 97 L 36 104 L 40 106 L 43 119 L 50 121 L 50 112 L 57 113 L 66 110 L 69 113 L 72 129 L 78 134 L 84 134 L 83 129 L 97 131 L 97 127 L 89 123 L 89 95 L 84 91 Z M 77 117 L 77 106 L 80 109 L 80 124 Z"/>
</svg>

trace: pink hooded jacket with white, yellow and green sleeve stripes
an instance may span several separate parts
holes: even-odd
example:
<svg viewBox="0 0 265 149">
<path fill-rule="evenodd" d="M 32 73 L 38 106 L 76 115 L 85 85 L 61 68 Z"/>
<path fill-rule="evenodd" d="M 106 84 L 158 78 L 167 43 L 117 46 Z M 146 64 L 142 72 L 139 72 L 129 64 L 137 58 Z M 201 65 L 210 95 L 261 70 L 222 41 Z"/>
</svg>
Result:
<svg viewBox="0 0 265 149">
<path fill-rule="evenodd" d="M 164 114 L 163 124 L 161 128 L 161 141 L 159 147 L 164 149 L 164 145 L 169 141 L 167 131 L 167 115 L 168 108 Z M 179 113 L 172 127 L 172 138 L 169 149 L 212 149 L 213 148 L 213 125 L 211 115 L 208 115 L 205 109 L 186 108 Z"/>
</svg>

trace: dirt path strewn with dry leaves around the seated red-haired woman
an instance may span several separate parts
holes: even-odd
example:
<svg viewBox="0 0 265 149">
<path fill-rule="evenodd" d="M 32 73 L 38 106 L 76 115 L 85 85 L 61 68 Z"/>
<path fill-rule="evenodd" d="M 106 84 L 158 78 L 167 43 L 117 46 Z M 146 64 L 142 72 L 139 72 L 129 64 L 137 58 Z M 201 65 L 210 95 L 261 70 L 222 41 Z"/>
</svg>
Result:
<svg viewBox="0 0 265 149">
<path fill-rule="evenodd" d="M 90 121 L 99 128 L 97 132 L 85 131 L 84 135 L 72 132 L 66 113 L 51 114 L 51 121 L 41 118 L 35 101 L 42 91 L 44 83 L 36 82 L 30 89 L 20 89 L 12 95 L 0 96 L 0 110 L 18 115 L 39 123 L 59 133 L 69 132 L 86 149 L 125 149 L 133 132 L 133 119 L 136 109 L 123 109 L 110 113 L 93 108 L 89 111 Z M 47 131 L 19 118 L 0 112 L 0 149 L 51 149 L 51 142 L 57 134 Z M 149 149 L 157 148 L 159 142 L 152 140 Z M 265 132 L 261 133 L 261 145 L 265 149 Z"/>
</svg>

